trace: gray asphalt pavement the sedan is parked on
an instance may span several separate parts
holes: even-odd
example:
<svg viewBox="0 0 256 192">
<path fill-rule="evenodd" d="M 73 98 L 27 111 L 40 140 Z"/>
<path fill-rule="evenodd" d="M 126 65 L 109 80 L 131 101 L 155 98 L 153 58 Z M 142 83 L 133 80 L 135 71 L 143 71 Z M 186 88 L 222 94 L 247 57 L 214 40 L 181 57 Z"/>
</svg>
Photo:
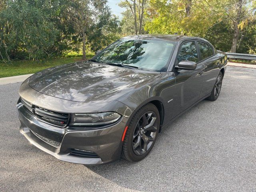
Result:
<svg viewBox="0 0 256 192">
<path fill-rule="evenodd" d="M 256 69 L 228 67 L 220 97 L 162 130 L 149 156 L 83 166 L 18 132 L 20 83 L 0 86 L 0 191 L 256 191 Z"/>
</svg>

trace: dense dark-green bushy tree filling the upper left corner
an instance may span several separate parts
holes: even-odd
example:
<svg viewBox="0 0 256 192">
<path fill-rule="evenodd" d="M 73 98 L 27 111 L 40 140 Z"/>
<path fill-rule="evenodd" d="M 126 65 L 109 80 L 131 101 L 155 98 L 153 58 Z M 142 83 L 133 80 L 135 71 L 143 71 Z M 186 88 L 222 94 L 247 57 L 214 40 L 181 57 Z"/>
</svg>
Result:
<svg viewBox="0 0 256 192">
<path fill-rule="evenodd" d="M 70 0 L 2 0 L 0 5 L 0 59 L 39 60 L 78 51 Z"/>
</svg>

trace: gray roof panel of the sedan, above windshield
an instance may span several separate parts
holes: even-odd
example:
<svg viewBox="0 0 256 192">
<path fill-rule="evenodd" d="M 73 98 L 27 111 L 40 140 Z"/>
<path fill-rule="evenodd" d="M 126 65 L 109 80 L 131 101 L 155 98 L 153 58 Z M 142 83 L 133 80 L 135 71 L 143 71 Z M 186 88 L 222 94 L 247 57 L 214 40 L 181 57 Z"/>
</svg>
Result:
<svg viewBox="0 0 256 192">
<path fill-rule="evenodd" d="M 126 36 L 124 38 L 138 38 L 138 39 L 159 39 L 159 40 L 168 40 L 172 42 L 180 42 L 186 40 L 207 40 L 199 37 L 185 36 L 185 35 L 172 35 L 172 34 L 142 34 L 142 35 L 132 35 Z"/>
</svg>

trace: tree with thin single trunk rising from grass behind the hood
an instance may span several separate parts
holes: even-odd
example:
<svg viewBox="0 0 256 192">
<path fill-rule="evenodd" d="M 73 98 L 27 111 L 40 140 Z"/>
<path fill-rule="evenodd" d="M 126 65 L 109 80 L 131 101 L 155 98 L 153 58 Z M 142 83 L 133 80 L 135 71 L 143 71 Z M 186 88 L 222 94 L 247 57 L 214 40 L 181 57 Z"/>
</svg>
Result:
<svg viewBox="0 0 256 192">
<path fill-rule="evenodd" d="M 70 9 L 71 23 L 82 34 L 83 60 L 86 59 L 86 40 L 93 28 L 101 27 L 110 18 L 107 0 L 74 0 Z"/>
</svg>

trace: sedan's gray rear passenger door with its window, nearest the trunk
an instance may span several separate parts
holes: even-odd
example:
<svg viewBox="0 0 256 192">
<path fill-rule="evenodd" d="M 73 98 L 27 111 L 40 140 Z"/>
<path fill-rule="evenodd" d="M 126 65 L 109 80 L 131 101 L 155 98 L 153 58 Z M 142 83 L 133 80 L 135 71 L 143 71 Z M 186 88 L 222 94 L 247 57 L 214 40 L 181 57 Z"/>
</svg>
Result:
<svg viewBox="0 0 256 192">
<path fill-rule="evenodd" d="M 203 87 L 200 93 L 200 98 L 203 98 L 213 89 L 216 77 L 220 71 L 220 58 L 215 54 L 214 48 L 207 42 L 197 41 L 198 48 L 200 50 L 200 60 L 205 66 L 204 72 L 202 72 Z"/>
</svg>

